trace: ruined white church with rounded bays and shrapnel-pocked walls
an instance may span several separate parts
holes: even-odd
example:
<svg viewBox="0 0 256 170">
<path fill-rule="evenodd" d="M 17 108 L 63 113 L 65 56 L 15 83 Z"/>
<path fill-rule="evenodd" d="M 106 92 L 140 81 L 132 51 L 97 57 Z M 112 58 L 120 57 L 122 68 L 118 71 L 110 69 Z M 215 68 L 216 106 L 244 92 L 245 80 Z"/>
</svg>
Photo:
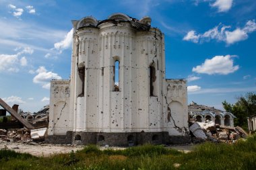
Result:
<svg viewBox="0 0 256 170">
<path fill-rule="evenodd" d="M 187 82 L 165 78 L 164 34 L 114 13 L 73 23 L 71 78 L 51 81 L 47 141 L 128 146 L 190 142 Z"/>
</svg>

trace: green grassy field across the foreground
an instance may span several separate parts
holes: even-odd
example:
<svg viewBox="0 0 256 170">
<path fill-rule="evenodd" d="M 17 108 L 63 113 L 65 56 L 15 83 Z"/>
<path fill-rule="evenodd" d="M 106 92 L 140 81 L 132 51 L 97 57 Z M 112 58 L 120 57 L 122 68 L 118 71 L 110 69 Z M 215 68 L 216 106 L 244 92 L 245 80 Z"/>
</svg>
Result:
<svg viewBox="0 0 256 170">
<path fill-rule="evenodd" d="M 0 169 L 256 169 L 256 135 L 236 144 L 206 142 L 191 153 L 150 144 L 117 151 L 91 145 L 51 157 L 1 150 Z"/>
</svg>

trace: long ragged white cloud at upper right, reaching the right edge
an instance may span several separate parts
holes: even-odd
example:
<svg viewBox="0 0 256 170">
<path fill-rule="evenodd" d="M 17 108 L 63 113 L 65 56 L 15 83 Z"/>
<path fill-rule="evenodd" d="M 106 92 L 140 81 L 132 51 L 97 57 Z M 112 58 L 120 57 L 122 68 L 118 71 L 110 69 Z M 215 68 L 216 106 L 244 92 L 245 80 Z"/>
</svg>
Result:
<svg viewBox="0 0 256 170">
<path fill-rule="evenodd" d="M 256 31 L 255 20 L 249 20 L 245 24 L 244 28 L 236 28 L 235 30 L 228 30 L 230 26 L 219 25 L 216 26 L 203 34 L 196 34 L 194 30 L 191 30 L 184 36 L 183 40 L 197 42 L 208 42 L 210 40 L 217 40 L 226 42 L 226 44 L 234 44 L 242 40 L 246 40 L 248 34 Z"/>
</svg>

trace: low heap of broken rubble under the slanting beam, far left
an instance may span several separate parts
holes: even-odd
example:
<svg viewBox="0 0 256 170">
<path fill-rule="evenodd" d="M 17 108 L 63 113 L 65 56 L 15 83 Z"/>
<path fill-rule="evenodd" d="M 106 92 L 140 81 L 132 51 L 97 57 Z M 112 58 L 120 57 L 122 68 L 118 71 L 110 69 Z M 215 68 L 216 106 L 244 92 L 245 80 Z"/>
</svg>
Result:
<svg viewBox="0 0 256 170">
<path fill-rule="evenodd" d="M 25 128 L 19 129 L 0 129 L 0 141 L 6 142 L 28 142 L 30 141 L 30 130 Z"/>
</svg>

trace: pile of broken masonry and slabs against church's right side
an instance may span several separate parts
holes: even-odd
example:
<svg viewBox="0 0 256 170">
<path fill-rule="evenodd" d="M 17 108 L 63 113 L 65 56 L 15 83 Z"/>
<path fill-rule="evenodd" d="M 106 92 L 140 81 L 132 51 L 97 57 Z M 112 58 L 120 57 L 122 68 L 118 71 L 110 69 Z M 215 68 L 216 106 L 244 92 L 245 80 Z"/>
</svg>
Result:
<svg viewBox="0 0 256 170">
<path fill-rule="evenodd" d="M 192 142 L 199 143 L 206 140 L 212 142 L 236 142 L 238 138 L 247 138 L 248 134 L 243 128 L 236 126 L 221 126 L 213 121 L 189 122 Z"/>
</svg>

